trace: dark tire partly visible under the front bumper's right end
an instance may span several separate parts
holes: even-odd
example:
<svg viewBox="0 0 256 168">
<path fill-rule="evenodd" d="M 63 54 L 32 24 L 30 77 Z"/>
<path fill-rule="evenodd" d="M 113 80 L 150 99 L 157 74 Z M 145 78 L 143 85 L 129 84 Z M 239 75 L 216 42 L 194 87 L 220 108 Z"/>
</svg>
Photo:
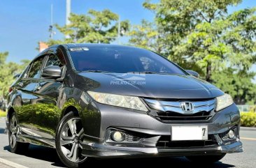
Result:
<svg viewBox="0 0 256 168">
<path fill-rule="evenodd" d="M 222 153 L 221 155 L 190 155 L 190 156 L 186 156 L 186 158 L 188 160 L 190 160 L 191 162 L 196 162 L 196 163 L 214 163 L 214 162 L 218 162 L 219 160 L 221 160 L 222 158 L 224 158 L 224 156 L 226 155 L 226 153 Z"/>
</svg>

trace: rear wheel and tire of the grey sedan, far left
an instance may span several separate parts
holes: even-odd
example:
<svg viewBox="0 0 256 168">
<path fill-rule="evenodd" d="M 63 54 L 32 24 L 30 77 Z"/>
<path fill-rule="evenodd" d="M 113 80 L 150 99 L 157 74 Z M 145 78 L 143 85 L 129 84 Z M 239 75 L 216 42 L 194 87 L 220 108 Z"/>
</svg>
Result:
<svg viewBox="0 0 256 168">
<path fill-rule="evenodd" d="M 17 142 L 17 118 L 15 113 L 10 116 L 10 125 L 8 130 L 8 140 L 10 145 L 10 151 L 12 153 L 24 154 L 29 148 L 29 144 L 23 142 Z"/>
</svg>

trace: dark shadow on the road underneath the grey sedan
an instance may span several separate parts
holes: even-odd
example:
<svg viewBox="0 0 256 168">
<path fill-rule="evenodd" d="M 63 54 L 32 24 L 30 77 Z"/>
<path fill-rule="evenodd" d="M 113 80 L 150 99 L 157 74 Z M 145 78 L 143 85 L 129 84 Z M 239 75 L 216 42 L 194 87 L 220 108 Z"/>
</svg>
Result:
<svg viewBox="0 0 256 168">
<path fill-rule="evenodd" d="M 10 146 L 5 146 L 4 150 L 10 151 Z M 52 162 L 50 165 L 55 167 L 65 167 L 59 160 L 57 152 L 54 148 L 48 148 L 44 146 L 30 145 L 29 151 L 25 154 L 29 158 L 35 158 L 38 160 L 45 160 Z M 235 167 L 234 165 L 225 164 L 223 162 L 216 162 L 212 165 L 193 164 L 185 159 L 185 157 L 168 157 L 168 158 L 136 158 L 136 159 L 90 159 L 87 160 L 87 166 L 113 168 L 118 165 L 129 165 L 129 167 L 159 167 L 160 165 L 170 165 L 172 168 L 229 168 Z M 45 165 L 47 167 L 47 165 Z"/>
</svg>

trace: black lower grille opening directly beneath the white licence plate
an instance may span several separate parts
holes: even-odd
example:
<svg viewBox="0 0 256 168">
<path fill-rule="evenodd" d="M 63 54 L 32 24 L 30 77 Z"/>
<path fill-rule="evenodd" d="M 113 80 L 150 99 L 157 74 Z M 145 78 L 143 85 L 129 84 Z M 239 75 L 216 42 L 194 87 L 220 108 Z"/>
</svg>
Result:
<svg viewBox="0 0 256 168">
<path fill-rule="evenodd" d="M 171 141 L 171 136 L 162 136 L 157 142 L 157 147 L 168 148 L 191 148 L 191 147 L 204 147 L 213 146 L 218 144 L 213 135 L 208 136 L 208 140 L 202 141 Z"/>
</svg>

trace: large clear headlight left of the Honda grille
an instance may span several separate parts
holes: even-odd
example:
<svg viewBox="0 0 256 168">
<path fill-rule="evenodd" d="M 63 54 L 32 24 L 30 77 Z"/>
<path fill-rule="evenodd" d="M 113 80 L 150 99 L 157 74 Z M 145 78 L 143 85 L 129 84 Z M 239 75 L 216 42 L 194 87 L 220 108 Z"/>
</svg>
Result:
<svg viewBox="0 0 256 168">
<path fill-rule="evenodd" d="M 108 93 L 99 93 L 94 91 L 87 91 L 92 98 L 105 105 L 113 105 L 117 107 L 124 107 L 127 109 L 136 109 L 143 112 L 148 112 L 147 107 L 141 102 L 141 99 L 134 96 L 121 96 Z"/>
</svg>

